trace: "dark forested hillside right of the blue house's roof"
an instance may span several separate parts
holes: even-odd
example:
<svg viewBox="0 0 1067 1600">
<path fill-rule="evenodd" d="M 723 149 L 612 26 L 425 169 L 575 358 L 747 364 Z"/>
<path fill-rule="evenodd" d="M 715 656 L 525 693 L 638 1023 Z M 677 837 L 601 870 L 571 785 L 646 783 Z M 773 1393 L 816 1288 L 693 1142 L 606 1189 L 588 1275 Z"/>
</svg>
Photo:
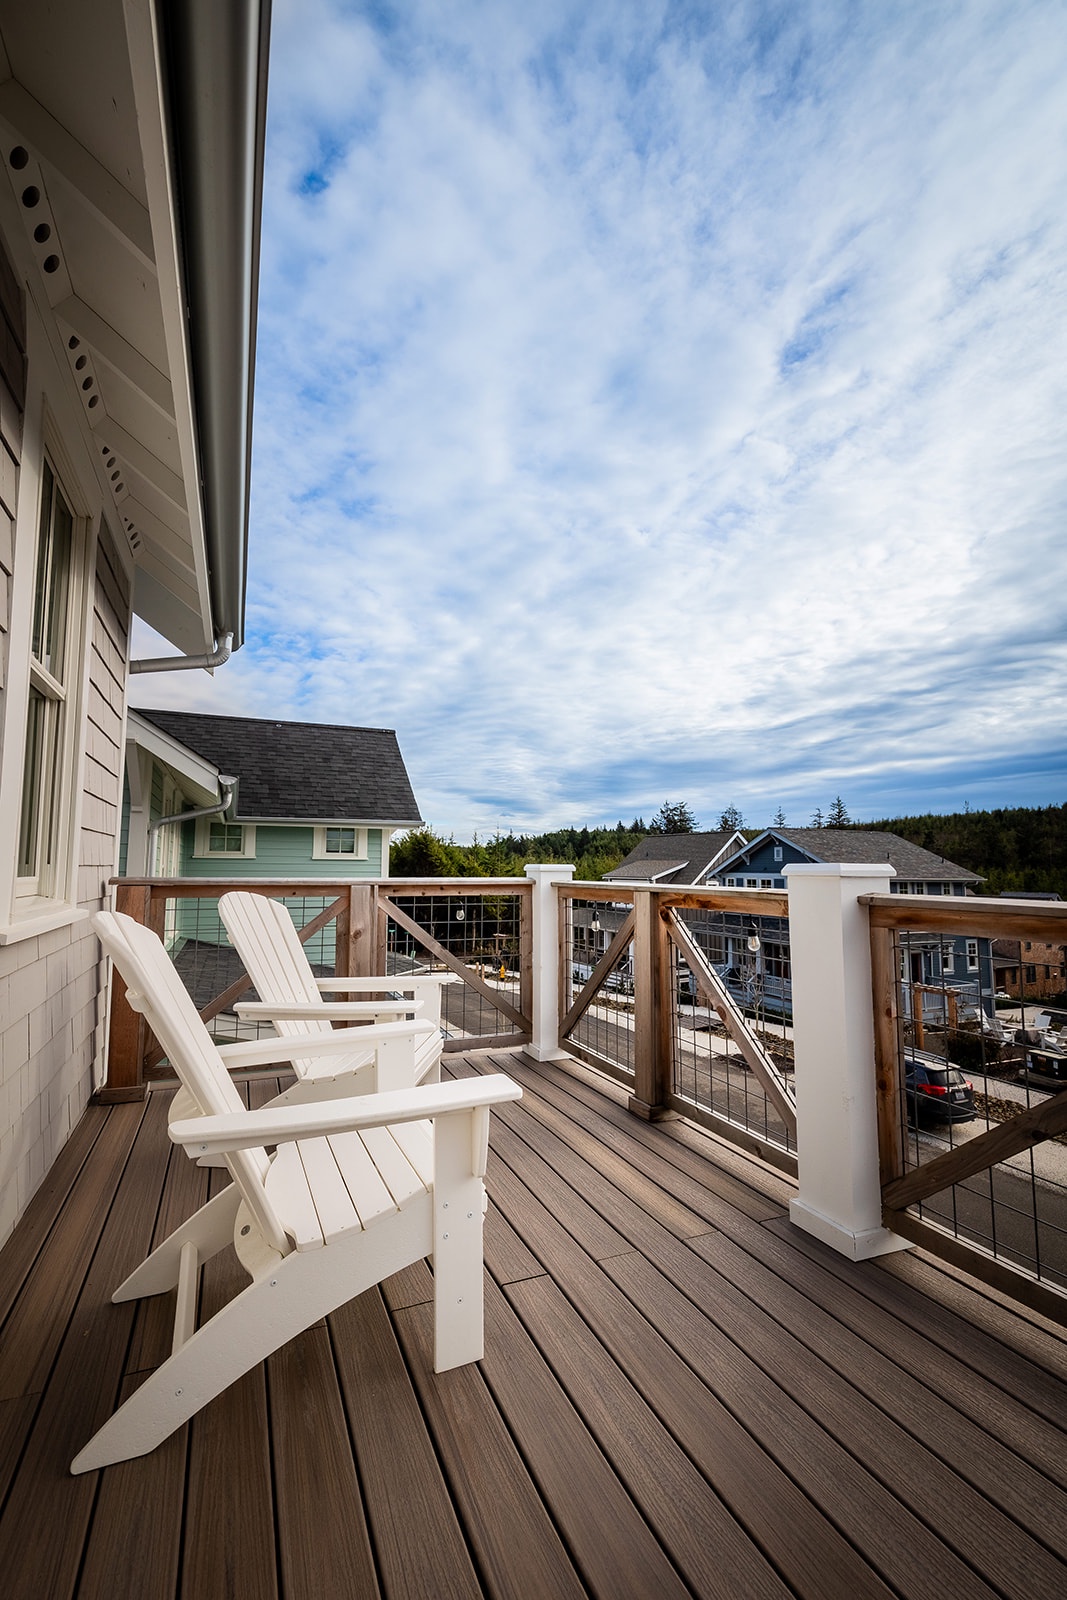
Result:
<svg viewBox="0 0 1067 1600">
<path fill-rule="evenodd" d="M 864 827 L 899 834 L 923 850 L 981 872 L 982 894 L 1054 890 L 1067 899 L 1067 805 L 896 816 Z"/>
</svg>

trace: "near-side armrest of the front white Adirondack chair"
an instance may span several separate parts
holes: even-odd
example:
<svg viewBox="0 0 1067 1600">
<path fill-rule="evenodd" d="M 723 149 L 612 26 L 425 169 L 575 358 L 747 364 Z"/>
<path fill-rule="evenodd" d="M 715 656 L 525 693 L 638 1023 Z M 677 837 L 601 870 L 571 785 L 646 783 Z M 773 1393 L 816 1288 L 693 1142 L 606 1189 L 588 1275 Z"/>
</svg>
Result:
<svg viewBox="0 0 1067 1600">
<path fill-rule="evenodd" d="M 446 1117 L 520 1098 L 518 1083 L 502 1072 L 491 1072 L 480 1078 L 453 1078 L 448 1083 L 424 1083 L 384 1094 L 354 1094 L 349 1099 L 274 1109 L 267 1106 L 226 1117 L 192 1117 L 171 1123 L 168 1131 L 174 1144 L 192 1149 L 195 1155 L 226 1155 L 262 1144 L 290 1144 L 294 1139 L 320 1139 L 331 1133 L 354 1133 L 386 1123 Z"/>
</svg>

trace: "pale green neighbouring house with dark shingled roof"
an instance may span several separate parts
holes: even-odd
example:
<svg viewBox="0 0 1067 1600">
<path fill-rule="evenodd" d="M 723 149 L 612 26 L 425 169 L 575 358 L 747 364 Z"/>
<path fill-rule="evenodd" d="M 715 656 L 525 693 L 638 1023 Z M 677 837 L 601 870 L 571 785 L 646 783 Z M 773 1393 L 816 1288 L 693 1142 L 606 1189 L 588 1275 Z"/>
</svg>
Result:
<svg viewBox="0 0 1067 1600">
<path fill-rule="evenodd" d="M 387 877 L 392 835 L 421 821 L 390 728 L 128 714 L 123 877 Z M 306 915 L 322 904 L 307 901 Z M 219 933 L 214 901 L 174 904 L 168 942 L 218 944 Z"/>
</svg>

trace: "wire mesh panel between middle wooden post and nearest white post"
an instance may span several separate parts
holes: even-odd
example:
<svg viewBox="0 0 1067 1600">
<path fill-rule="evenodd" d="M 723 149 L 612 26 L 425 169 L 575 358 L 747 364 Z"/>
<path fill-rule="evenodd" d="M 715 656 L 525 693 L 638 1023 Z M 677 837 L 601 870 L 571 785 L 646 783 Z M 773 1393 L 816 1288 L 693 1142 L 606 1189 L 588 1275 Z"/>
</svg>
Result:
<svg viewBox="0 0 1067 1600">
<path fill-rule="evenodd" d="M 689 934 L 734 1003 L 745 1029 L 792 1082 L 789 922 L 712 909 L 680 912 Z M 673 1093 L 745 1133 L 795 1155 L 797 1141 L 697 974 L 672 946 Z"/>
</svg>

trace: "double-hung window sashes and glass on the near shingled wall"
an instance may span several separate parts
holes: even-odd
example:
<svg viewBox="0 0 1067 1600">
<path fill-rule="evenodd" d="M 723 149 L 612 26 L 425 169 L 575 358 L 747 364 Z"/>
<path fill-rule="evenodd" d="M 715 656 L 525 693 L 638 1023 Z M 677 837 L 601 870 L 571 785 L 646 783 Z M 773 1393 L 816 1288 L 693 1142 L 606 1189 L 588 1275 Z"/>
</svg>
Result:
<svg viewBox="0 0 1067 1600">
<path fill-rule="evenodd" d="M 22 806 L 19 813 L 18 893 L 58 894 L 62 851 L 59 803 L 64 782 L 69 691 L 74 682 L 70 640 L 74 514 L 45 461 L 42 474 L 30 690 L 26 714 Z"/>
</svg>

